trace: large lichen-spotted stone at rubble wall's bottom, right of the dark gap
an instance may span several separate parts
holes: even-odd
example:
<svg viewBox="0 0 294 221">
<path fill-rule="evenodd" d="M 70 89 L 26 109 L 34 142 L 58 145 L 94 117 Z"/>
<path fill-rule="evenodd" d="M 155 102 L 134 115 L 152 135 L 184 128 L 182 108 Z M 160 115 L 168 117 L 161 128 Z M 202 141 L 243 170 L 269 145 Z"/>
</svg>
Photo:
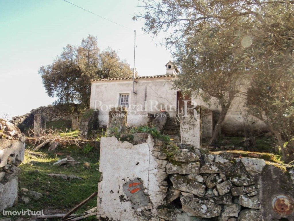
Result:
<svg viewBox="0 0 294 221">
<path fill-rule="evenodd" d="M 190 216 L 211 218 L 220 215 L 221 206 L 206 199 L 181 196 L 182 210 Z"/>
</svg>

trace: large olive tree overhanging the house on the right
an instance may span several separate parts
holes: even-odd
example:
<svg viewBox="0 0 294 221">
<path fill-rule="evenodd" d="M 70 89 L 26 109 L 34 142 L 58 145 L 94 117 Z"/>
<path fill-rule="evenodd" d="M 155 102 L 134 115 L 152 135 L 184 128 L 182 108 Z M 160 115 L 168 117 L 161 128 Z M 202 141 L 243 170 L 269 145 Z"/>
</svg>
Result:
<svg viewBox="0 0 294 221">
<path fill-rule="evenodd" d="M 146 32 L 166 32 L 164 43 L 176 51 L 181 69 L 178 88 L 218 100 L 222 110 L 211 143 L 232 98 L 249 87 L 255 102 L 248 111 L 269 125 L 284 160 L 293 158 L 293 3 L 151 0 L 134 17 L 145 19 Z"/>
</svg>

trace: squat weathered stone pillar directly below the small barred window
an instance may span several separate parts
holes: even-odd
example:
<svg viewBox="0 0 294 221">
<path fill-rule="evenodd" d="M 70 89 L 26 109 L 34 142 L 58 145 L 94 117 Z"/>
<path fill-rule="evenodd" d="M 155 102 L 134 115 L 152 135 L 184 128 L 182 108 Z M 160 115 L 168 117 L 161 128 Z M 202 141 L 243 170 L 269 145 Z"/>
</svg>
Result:
<svg viewBox="0 0 294 221">
<path fill-rule="evenodd" d="M 108 112 L 107 134 L 120 133 L 127 126 L 127 109 L 125 107 L 111 108 Z"/>
</svg>

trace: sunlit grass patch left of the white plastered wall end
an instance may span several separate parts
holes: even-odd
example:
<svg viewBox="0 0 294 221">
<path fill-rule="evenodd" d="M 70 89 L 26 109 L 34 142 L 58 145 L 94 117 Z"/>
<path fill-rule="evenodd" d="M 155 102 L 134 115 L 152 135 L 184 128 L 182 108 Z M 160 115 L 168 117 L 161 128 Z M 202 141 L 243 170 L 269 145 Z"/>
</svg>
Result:
<svg viewBox="0 0 294 221">
<path fill-rule="evenodd" d="M 96 170 L 99 168 L 99 153 L 95 148 L 88 154 L 84 154 L 83 150 L 75 145 L 65 146 L 52 153 L 47 151 L 35 152 L 42 154 L 42 156 L 34 156 L 27 153 L 27 151 L 33 152 L 27 149 L 25 159 L 19 165 L 22 170 L 19 175 L 19 189 L 34 190 L 41 193 L 43 197 L 39 200 L 31 200 L 28 204 L 24 204 L 19 200 L 16 206 L 8 209 L 9 211 L 27 209 L 38 211 L 50 208 L 66 212 L 97 191 L 97 183 L 101 173 Z M 55 161 L 65 158 L 67 155 L 74 157 L 80 164 L 69 167 L 52 165 Z M 37 161 L 37 163 L 30 164 L 29 162 L 32 160 Z M 85 169 L 82 166 L 84 162 L 88 162 L 91 168 Z M 47 176 L 50 173 L 75 175 L 82 179 L 65 181 Z M 20 193 L 19 196 L 22 196 L 22 194 Z M 96 200 L 96 198 L 90 200 L 77 212 L 83 213 L 97 206 Z M 88 220 L 91 219 L 96 220 L 96 217 L 88 218 Z"/>
</svg>

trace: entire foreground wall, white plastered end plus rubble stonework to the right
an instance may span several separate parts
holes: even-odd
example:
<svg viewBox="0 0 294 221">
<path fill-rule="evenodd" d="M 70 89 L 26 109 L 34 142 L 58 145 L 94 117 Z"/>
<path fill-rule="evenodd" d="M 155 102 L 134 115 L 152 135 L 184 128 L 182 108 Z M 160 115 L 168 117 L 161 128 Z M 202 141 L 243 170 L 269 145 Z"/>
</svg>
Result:
<svg viewBox="0 0 294 221">
<path fill-rule="evenodd" d="M 134 134 L 101 140 L 100 220 L 290 221 L 293 166 Z"/>
</svg>

